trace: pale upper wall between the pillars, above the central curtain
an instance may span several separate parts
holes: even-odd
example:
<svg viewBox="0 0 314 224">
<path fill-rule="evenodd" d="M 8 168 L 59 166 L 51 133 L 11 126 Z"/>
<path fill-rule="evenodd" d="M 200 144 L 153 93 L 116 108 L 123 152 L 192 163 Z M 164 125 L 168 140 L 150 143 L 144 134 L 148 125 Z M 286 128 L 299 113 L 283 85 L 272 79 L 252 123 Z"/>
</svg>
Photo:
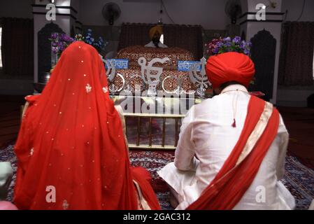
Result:
<svg viewBox="0 0 314 224">
<path fill-rule="evenodd" d="M 72 0 L 78 1 L 78 0 Z M 80 0 L 80 21 L 84 25 L 108 25 L 101 15 L 103 6 L 112 0 Z M 115 25 L 122 22 L 156 23 L 161 15 L 159 0 L 116 0 L 122 11 Z M 166 9 L 178 24 L 202 25 L 204 29 L 225 29 L 229 18 L 224 13 L 227 0 L 164 0 Z M 162 14 L 163 22 L 171 20 Z"/>
</svg>

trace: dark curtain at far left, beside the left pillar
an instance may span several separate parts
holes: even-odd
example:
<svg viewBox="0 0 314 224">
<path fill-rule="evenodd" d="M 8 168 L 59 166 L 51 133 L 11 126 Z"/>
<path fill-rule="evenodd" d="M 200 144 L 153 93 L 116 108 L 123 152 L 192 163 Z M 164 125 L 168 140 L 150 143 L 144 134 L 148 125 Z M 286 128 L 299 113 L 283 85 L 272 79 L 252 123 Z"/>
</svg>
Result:
<svg viewBox="0 0 314 224">
<path fill-rule="evenodd" d="M 1 18 L 3 73 L 9 76 L 34 75 L 34 21 Z"/>
</svg>

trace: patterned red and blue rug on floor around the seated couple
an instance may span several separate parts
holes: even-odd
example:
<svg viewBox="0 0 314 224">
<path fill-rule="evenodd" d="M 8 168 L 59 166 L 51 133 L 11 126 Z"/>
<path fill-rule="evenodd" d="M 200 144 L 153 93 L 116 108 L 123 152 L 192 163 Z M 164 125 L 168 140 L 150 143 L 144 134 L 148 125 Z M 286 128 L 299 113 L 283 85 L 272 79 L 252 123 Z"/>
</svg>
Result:
<svg viewBox="0 0 314 224">
<path fill-rule="evenodd" d="M 152 186 L 156 192 L 162 209 L 173 209 L 169 204 L 169 189 L 166 183 L 157 175 L 157 171 L 174 159 L 174 153 L 169 151 L 131 151 L 131 165 L 142 166 L 152 174 Z M 14 172 L 16 172 L 16 158 L 13 146 L 0 150 L 0 162 L 11 162 Z M 308 209 L 314 199 L 314 171 L 309 169 L 292 156 L 287 156 L 285 162 L 284 185 L 290 190 L 297 204 L 297 209 Z M 14 175 L 10 185 L 8 201 L 13 198 L 13 186 L 15 185 Z"/>
</svg>

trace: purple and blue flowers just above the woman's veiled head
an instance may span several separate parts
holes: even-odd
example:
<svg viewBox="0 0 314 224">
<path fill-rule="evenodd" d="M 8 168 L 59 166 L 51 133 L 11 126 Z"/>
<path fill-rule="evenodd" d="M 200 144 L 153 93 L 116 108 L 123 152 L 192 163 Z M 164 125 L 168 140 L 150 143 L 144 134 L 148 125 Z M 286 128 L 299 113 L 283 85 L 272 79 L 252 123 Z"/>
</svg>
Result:
<svg viewBox="0 0 314 224">
<path fill-rule="evenodd" d="M 99 36 L 98 41 L 95 41 L 95 38 L 92 36 L 92 29 L 87 29 L 86 36 L 83 36 L 82 34 L 76 34 L 74 38 L 66 34 L 54 33 L 54 34 L 51 34 L 51 37 L 49 38 L 49 40 L 51 41 L 52 52 L 55 55 L 61 55 L 61 53 L 71 43 L 75 41 L 84 41 L 85 43 L 88 43 L 92 45 L 94 48 L 96 48 L 98 52 L 101 52 L 101 50 L 104 50 L 104 48 L 108 44 L 108 42 L 105 43 L 104 39 L 101 38 L 101 36 Z"/>
</svg>

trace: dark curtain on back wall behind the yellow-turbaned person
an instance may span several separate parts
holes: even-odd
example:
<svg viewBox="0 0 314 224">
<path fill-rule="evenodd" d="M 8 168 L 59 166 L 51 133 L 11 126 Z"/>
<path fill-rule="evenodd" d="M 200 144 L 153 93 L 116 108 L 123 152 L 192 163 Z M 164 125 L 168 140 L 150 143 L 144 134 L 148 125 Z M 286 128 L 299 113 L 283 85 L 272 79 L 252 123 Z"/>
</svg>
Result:
<svg viewBox="0 0 314 224">
<path fill-rule="evenodd" d="M 150 42 L 148 32 L 153 24 L 124 23 L 121 27 L 118 50 L 131 45 L 145 45 Z M 164 43 L 171 47 L 190 50 L 195 59 L 203 57 L 203 29 L 199 25 L 162 25 Z"/>
</svg>

